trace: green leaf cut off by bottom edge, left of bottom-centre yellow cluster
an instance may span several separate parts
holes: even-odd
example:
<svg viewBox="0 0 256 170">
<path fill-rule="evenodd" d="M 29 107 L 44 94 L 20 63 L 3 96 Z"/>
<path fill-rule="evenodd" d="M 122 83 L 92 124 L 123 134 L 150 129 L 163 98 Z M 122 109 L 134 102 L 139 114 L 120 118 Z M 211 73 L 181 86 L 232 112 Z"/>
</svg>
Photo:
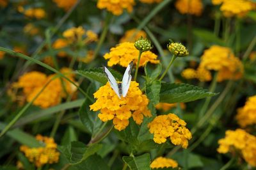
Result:
<svg viewBox="0 0 256 170">
<path fill-rule="evenodd" d="M 138 157 L 123 157 L 123 160 L 132 170 L 150 170 L 149 153 L 145 153 Z"/>
</svg>

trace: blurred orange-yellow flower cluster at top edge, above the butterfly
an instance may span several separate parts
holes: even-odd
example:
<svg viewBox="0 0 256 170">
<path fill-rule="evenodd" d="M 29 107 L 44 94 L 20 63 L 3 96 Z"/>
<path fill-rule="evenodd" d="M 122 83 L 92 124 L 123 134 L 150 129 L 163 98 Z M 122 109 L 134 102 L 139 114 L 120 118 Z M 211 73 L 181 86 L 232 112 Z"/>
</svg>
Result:
<svg viewBox="0 0 256 170">
<path fill-rule="evenodd" d="M 109 12 L 113 13 L 114 15 L 121 15 L 124 12 L 124 10 L 127 10 L 131 13 L 134 4 L 134 0 L 99 0 L 97 3 L 97 7 L 100 10 L 106 8 Z"/>
</svg>

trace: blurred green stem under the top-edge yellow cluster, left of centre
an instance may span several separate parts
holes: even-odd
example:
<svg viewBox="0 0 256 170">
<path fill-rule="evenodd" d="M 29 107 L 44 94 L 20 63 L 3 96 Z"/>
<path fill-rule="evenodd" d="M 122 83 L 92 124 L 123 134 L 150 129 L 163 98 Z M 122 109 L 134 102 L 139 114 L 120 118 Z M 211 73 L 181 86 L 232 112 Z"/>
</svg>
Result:
<svg viewBox="0 0 256 170">
<path fill-rule="evenodd" d="M 112 18 L 112 14 L 108 12 L 107 16 L 106 16 L 106 19 L 105 19 L 105 23 L 104 23 L 104 27 L 103 27 L 103 31 L 100 35 L 100 40 L 99 40 L 99 43 L 97 44 L 97 47 L 96 49 L 94 50 L 94 54 L 93 54 L 93 59 L 97 57 L 99 51 L 100 51 L 100 48 L 106 38 L 106 35 L 108 33 L 108 29 L 109 29 L 109 23 L 111 21 L 111 18 Z"/>
</svg>

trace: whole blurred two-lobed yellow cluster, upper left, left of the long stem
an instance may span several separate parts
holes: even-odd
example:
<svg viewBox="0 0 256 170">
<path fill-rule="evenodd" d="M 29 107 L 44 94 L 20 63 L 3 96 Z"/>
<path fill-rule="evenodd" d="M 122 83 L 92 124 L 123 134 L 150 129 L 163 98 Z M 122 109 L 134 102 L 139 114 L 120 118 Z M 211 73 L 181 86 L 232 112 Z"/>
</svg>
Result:
<svg viewBox="0 0 256 170">
<path fill-rule="evenodd" d="M 63 37 L 68 40 L 68 43 L 81 42 L 83 36 L 86 38 L 83 40 L 83 43 L 96 42 L 98 40 L 98 35 L 93 33 L 93 31 L 86 31 L 83 27 L 71 27 L 63 32 Z"/>
</svg>

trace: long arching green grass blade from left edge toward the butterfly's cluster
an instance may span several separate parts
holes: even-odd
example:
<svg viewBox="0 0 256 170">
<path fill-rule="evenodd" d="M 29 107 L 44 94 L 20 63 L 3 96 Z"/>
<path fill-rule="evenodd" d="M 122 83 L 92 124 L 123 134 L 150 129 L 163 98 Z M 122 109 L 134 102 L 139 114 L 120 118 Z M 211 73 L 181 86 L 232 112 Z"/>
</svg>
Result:
<svg viewBox="0 0 256 170">
<path fill-rule="evenodd" d="M 16 56 L 16 57 L 19 57 L 19 58 L 23 58 L 23 59 L 26 59 L 28 61 L 32 61 L 40 66 L 43 66 L 44 68 L 47 68 L 48 70 L 51 70 L 52 72 L 54 73 L 57 73 L 58 75 L 60 75 L 61 77 L 63 77 L 64 79 L 66 79 L 68 82 L 72 83 L 74 86 L 76 86 L 77 89 L 79 89 L 79 91 L 84 95 L 84 97 L 88 97 L 89 100 L 91 102 L 93 102 L 93 99 L 83 91 L 83 89 L 81 89 L 79 86 L 77 86 L 76 82 L 73 82 L 72 80 L 70 80 L 68 77 L 66 77 L 63 73 L 59 72 L 58 70 L 52 68 L 51 66 L 49 65 L 46 65 L 45 63 L 42 63 L 41 61 L 39 61 L 38 59 L 35 59 L 35 58 L 30 58 L 29 56 L 26 56 L 22 53 L 19 53 L 19 52 L 15 52 L 13 50 L 9 50 L 9 49 L 6 49 L 6 48 L 3 48 L 3 47 L 0 47 L 0 51 L 3 51 L 3 52 L 6 52 L 8 54 L 10 54 L 11 56 Z"/>
</svg>

